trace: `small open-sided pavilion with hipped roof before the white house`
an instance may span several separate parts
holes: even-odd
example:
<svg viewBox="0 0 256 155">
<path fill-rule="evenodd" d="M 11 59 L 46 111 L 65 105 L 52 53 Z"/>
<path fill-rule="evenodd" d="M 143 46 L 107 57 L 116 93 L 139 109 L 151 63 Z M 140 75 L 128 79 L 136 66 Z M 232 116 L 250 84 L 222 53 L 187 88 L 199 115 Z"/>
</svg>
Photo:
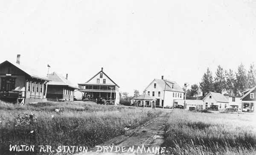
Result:
<svg viewBox="0 0 256 155">
<path fill-rule="evenodd" d="M 137 98 L 133 98 L 133 100 L 135 100 L 134 106 L 143 106 L 151 108 L 156 107 L 157 99 L 146 94 L 140 95 Z"/>
</svg>

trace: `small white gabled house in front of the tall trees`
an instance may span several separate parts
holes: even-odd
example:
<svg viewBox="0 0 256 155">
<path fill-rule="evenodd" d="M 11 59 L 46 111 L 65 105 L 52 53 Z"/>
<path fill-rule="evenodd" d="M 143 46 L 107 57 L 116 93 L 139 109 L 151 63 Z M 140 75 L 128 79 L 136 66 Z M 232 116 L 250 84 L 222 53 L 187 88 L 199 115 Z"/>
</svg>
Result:
<svg viewBox="0 0 256 155">
<path fill-rule="evenodd" d="M 218 109 L 223 110 L 229 107 L 229 100 L 217 92 L 209 92 L 203 99 L 204 109 L 209 108 L 211 105 L 217 105 Z"/>
</svg>

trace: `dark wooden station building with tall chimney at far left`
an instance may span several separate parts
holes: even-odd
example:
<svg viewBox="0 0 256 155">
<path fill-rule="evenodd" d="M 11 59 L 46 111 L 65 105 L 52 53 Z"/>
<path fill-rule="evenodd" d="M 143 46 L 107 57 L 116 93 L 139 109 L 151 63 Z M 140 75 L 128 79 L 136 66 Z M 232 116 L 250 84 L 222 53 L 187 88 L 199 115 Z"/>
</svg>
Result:
<svg viewBox="0 0 256 155">
<path fill-rule="evenodd" d="M 49 79 L 35 69 L 17 62 L 4 61 L 0 64 L 0 99 L 13 103 L 32 103 L 46 101 Z"/>
</svg>

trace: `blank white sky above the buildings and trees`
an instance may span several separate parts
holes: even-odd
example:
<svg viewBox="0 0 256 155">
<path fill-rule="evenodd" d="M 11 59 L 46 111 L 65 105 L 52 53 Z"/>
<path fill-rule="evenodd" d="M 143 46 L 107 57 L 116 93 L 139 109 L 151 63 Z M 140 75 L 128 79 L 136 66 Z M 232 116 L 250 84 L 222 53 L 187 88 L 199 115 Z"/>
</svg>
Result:
<svg viewBox="0 0 256 155">
<path fill-rule="evenodd" d="M 164 75 L 256 63 L 256 0 L 0 0 L 0 62 L 84 83 L 101 67 L 122 92 Z"/>
</svg>

